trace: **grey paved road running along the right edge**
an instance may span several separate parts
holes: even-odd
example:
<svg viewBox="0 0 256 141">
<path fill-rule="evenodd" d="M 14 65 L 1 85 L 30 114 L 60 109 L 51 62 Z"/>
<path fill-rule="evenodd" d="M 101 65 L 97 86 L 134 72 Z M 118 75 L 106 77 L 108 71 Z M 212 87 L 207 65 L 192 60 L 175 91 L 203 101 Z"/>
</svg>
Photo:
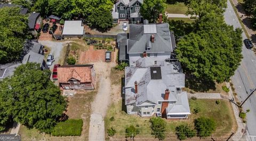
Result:
<svg viewBox="0 0 256 141">
<path fill-rule="evenodd" d="M 225 21 L 229 25 L 233 25 L 234 28 L 242 28 L 239 23 L 235 11 L 228 1 L 228 8 L 224 13 Z M 245 33 L 242 34 L 243 40 L 246 39 Z M 256 57 L 252 50 L 246 49 L 243 45 L 243 60 L 241 65 L 235 72 L 235 75 L 231 77 L 231 81 L 234 84 L 235 91 L 238 94 L 239 101 L 245 100 L 245 98 L 251 93 L 250 89 L 256 88 Z M 243 110 L 250 109 L 247 113 L 247 133 L 250 135 L 256 135 L 256 97 L 252 95 L 244 105 Z"/>
</svg>

